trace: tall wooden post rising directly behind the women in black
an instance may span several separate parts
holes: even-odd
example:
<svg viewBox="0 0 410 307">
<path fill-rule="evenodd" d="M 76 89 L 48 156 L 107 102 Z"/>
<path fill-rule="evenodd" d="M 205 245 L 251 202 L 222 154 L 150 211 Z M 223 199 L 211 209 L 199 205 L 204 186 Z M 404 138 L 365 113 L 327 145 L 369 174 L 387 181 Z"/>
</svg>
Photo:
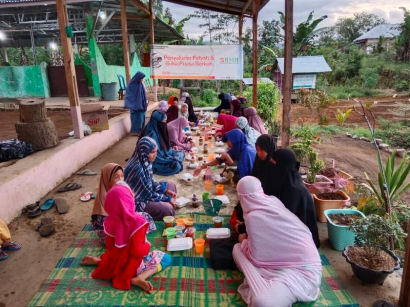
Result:
<svg viewBox="0 0 410 307">
<path fill-rule="evenodd" d="M 285 0 L 285 86 L 282 115 L 282 147 L 289 146 L 292 99 L 293 0 Z"/>
</svg>

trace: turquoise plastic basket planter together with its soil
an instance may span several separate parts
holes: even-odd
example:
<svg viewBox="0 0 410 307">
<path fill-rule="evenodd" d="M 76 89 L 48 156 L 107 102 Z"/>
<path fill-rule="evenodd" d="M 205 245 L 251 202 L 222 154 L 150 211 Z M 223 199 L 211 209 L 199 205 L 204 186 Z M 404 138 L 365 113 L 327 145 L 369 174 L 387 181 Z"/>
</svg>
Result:
<svg viewBox="0 0 410 307">
<path fill-rule="evenodd" d="M 356 234 L 348 227 L 354 220 L 365 217 L 362 212 L 352 209 L 328 209 L 325 216 L 328 220 L 328 237 L 336 251 L 342 251 L 355 242 Z"/>
</svg>

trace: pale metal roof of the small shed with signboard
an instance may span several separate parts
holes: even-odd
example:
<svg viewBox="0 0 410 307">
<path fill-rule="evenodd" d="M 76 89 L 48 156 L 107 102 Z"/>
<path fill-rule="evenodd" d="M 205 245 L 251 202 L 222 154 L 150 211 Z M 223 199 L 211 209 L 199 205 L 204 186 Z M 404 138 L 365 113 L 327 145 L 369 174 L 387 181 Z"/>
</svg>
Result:
<svg viewBox="0 0 410 307">
<path fill-rule="evenodd" d="M 284 58 L 277 58 L 276 61 L 281 73 L 284 74 Z M 315 74 L 325 72 L 331 72 L 331 68 L 323 55 L 299 56 L 292 60 L 292 74 Z"/>
</svg>

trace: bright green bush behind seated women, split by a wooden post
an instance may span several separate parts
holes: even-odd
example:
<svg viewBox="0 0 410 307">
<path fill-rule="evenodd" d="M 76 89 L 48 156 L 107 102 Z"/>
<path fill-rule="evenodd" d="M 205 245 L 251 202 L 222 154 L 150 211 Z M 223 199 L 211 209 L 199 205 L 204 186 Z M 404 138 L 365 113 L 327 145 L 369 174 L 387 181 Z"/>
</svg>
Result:
<svg viewBox="0 0 410 307">
<path fill-rule="evenodd" d="M 258 114 L 264 121 L 269 123 L 276 119 L 279 111 L 280 91 L 276 84 L 269 82 L 258 82 Z M 248 86 L 244 91 L 244 97 L 252 105 L 252 87 Z"/>
</svg>

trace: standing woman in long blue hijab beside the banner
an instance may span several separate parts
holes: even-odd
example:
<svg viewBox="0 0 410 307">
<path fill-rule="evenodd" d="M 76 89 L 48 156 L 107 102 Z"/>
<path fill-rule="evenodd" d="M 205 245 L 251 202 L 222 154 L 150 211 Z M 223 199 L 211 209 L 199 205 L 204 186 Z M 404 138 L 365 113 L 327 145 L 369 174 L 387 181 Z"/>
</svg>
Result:
<svg viewBox="0 0 410 307">
<path fill-rule="evenodd" d="M 147 94 L 142 80 L 145 75 L 137 72 L 129 81 L 125 92 L 124 108 L 129 109 L 131 114 L 131 133 L 139 135 L 145 123 L 145 112 L 147 111 Z"/>
</svg>

